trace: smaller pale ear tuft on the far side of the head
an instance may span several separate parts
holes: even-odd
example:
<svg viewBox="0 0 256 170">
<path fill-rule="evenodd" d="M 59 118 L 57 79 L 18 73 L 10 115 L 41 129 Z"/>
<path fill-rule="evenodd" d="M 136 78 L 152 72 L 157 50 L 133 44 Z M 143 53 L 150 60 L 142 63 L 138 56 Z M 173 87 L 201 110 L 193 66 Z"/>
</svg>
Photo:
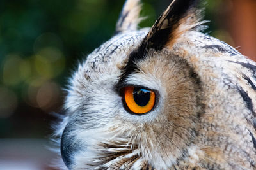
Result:
<svg viewBox="0 0 256 170">
<path fill-rule="evenodd" d="M 138 24 L 143 20 L 140 18 L 140 11 L 140 0 L 127 0 L 118 18 L 115 34 L 136 30 Z"/>
</svg>

